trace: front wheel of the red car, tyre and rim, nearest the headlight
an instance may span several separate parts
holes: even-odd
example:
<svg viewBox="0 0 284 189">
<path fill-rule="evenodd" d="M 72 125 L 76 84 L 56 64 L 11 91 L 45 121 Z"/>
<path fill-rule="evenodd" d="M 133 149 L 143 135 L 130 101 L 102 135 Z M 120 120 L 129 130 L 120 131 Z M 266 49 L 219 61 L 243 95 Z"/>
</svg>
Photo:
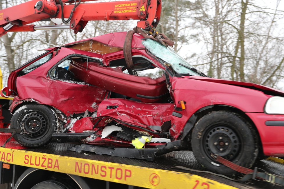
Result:
<svg viewBox="0 0 284 189">
<path fill-rule="evenodd" d="M 220 155 L 246 168 L 250 168 L 258 156 L 258 137 L 254 128 L 234 112 L 216 111 L 199 119 L 193 128 L 191 142 L 197 161 L 222 175 L 237 172 L 218 163 L 211 155 Z"/>
</svg>

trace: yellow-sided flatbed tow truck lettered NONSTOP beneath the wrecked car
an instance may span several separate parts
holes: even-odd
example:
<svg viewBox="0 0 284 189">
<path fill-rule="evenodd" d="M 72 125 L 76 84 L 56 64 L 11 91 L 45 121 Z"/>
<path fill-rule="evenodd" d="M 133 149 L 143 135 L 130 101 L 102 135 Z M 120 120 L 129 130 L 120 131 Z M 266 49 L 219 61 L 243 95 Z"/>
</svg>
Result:
<svg viewBox="0 0 284 189">
<path fill-rule="evenodd" d="M 0 134 L 1 145 L 10 134 Z M 177 170 L 183 166 L 204 170 L 191 151 L 175 151 L 145 160 L 96 155 L 92 152 L 69 151 L 73 143 L 49 143 L 41 148 L 24 148 L 13 139 L 0 147 L 2 188 L 32 188 L 37 183 L 57 181 L 72 183 L 74 188 L 282 188 L 269 182 L 231 181 L 204 172 Z M 275 162 L 276 161 L 276 162 Z M 257 162 L 273 174 L 284 176 L 283 160 L 268 158 Z M 48 185 L 49 186 L 49 185 Z M 64 185 L 69 188 L 68 184 Z M 35 187 L 36 188 L 36 187 Z M 70 187 L 72 188 L 72 187 Z"/>
</svg>

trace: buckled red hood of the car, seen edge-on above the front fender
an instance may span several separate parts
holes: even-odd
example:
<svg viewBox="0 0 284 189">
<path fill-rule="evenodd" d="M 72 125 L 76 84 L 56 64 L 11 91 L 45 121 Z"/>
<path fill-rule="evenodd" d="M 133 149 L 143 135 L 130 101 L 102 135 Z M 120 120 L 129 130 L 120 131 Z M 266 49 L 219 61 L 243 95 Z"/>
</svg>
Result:
<svg viewBox="0 0 284 189">
<path fill-rule="evenodd" d="M 267 87 L 267 86 L 263 86 L 263 85 L 258 85 L 258 84 L 255 84 L 255 83 L 247 83 L 247 82 L 241 82 L 241 81 L 231 81 L 231 80 L 215 79 L 215 78 L 211 78 L 211 77 L 199 77 L 199 76 L 182 76 L 182 77 L 188 78 L 188 79 L 197 79 L 197 80 L 201 80 L 201 81 L 214 82 L 214 83 L 223 83 L 223 84 L 228 84 L 228 85 L 235 85 L 235 86 L 250 88 L 250 89 L 254 89 L 254 90 L 259 90 L 259 91 L 264 92 L 267 95 L 284 97 L 284 91 L 274 89 L 274 88 L 271 88 L 271 87 Z"/>
</svg>

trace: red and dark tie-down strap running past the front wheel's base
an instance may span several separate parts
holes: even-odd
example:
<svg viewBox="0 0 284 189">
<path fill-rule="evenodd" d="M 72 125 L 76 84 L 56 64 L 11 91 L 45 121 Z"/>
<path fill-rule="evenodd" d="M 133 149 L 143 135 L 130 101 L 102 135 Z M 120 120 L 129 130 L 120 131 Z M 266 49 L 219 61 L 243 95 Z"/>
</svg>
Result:
<svg viewBox="0 0 284 189">
<path fill-rule="evenodd" d="M 193 171 L 193 172 L 204 172 L 204 173 L 210 173 L 212 175 L 216 175 L 216 176 L 220 176 L 226 179 L 229 179 L 231 181 L 237 181 L 237 182 L 246 182 L 250 179 L 254 179 L 254 180 L 260 180 L 260 181 L 267 181 L 273 184 L 277 184 L 277 185 L 281 185 L 284 186 L 284 177 L 281 177 L 279 175 L 274 175 L 274 174 L 270 174 L 265 172 L 265 170 L 260 169 L 255 167 L 254 170 L 249 169 L 249 168 L 245 168 L 242 166 L 237 165 L 236 163 L 233 163 L 227 159 L 224 159 L 223 157 L 219 156 L 219 155 L 212 155 L 212 157 L 218 161 L 219 163 L 222 163 L 224 166 L 227 166 L 235 171 L 238 171 L 240 173 L 245 174 L 244 177 L 242 177 L 241 179 L 232 179 L 230 177 L 227 177 L 225 175 L 220 175 L 220 174 L 216 174 L 213 172 L 209 172 L 209 171 L 201 171 L 201 170 L 194 170 L 194 169 L 190 169 L 190 168 L 186 168 L 183 166 L 176 166 L 176 167 L 172 167 L 172 169 L 181 169 L 181 170 L 188 170 L 188 171 Z"/>
</svg>

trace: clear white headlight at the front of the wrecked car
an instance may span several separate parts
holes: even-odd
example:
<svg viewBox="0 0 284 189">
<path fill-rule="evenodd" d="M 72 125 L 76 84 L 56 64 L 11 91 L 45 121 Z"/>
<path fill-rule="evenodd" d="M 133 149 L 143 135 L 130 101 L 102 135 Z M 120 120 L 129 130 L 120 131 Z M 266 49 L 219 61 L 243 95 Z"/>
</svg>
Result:
<svg viewBox="0 0 284 189">
<path fill-rule="evenodd" d="M 267 114 L 284 114 L 284 97 L 271 97 L 266 101 L 264 111 Z"/>
</svg>

